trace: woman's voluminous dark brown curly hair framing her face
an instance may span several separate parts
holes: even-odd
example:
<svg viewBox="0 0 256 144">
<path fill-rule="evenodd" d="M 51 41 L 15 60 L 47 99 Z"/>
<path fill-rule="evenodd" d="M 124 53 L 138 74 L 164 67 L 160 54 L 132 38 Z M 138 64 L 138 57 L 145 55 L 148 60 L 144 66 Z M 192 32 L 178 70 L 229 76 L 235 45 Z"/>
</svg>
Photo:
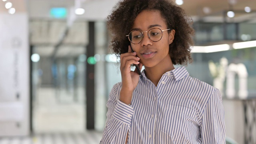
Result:
<svg viewBox="0 0 256 144">
<path fill-rule="evenodd" d="M 112 14 L 107 17 L 107 25 L 112 32 L 110 48 L 116 54 L 128 52 L 130 41 L 126 37 L 134 24 L 135 18 L 143 10 L 158 10 L 166 21 L 167 28 L 175 30 L 169 54 L 173 64 L 187 65 L 192 62 L 190 56 L 193 46 L 193 20 L 185 11 L 168 0 L 122 0 L 114 6 Z M 170 32 L 170 31 L 169 31 Z"/>
</svg>

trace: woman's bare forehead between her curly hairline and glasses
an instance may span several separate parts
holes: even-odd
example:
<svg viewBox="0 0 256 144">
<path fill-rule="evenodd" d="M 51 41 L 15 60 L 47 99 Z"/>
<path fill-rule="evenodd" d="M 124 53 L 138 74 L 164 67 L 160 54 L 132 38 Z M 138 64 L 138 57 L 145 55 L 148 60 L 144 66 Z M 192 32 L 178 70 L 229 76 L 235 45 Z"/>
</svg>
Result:
<svg viewBox="0 0 256 144">
<path fill-rule="evenodd" d="M 158 10 L 143 10 L 134 20 L 132 28 L 148 30 L 149 26 L 160 25 L 167 28 L 166 21 Z"/>
</svg>

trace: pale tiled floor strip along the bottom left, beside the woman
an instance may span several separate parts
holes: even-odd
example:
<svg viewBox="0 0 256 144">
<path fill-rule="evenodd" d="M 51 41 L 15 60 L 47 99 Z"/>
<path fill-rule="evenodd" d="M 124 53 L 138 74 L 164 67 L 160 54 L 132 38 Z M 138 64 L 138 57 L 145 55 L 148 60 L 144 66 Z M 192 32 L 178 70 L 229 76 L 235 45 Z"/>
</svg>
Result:
<svg viewBox="0 0 256 144">
<path fill-rule="evenodd" d="M 0 144 L 99 144 L 102 132 L 37 134 L 30 137 L 0 137 Z"/>
</svg>

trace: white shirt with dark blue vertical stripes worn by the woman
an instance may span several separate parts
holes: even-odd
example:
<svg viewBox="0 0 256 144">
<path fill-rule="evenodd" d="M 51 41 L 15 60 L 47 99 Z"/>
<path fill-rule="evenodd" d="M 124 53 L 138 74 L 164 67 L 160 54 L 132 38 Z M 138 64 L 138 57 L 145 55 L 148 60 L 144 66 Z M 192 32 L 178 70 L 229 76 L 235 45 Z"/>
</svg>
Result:
<svg viewBox="0 0 256 144">
<path fill-rule="evenodd" d="M 107 102 L 100 144 L 225 144 L 218 89 L 189 76 L 185 67 L 163 74 L 155 86 L 142 71 L 132 105 L 122 103 L 121 82 Z"/>
</svg>

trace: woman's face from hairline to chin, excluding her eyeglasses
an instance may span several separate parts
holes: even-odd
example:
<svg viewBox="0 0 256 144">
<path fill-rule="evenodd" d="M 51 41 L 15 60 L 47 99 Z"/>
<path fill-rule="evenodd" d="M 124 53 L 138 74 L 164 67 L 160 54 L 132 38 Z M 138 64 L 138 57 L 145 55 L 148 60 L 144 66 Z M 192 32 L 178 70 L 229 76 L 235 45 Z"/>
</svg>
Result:
<svg viewBox="0 0 256 144">
<path fill-rule="evenodd" d="M 169 44 L 174 39 L 175 31 L 166 30 L 162 32 L 162 39 L 153 42 L 148 38 L 148 30 L 152 28 L 168 29 L 164 18 L 162 18 L 158 10 L 144 10 L 138 14 L 134 20 L 132 30 L 140 30 L 143 32 L 143 39 L 139 44 L 132 44 L 132 49 L 137 53 L 140 62 L 145 68 L 154 66 L 165 66 L 172 64 L 169 55 Z"/>
</svg>

